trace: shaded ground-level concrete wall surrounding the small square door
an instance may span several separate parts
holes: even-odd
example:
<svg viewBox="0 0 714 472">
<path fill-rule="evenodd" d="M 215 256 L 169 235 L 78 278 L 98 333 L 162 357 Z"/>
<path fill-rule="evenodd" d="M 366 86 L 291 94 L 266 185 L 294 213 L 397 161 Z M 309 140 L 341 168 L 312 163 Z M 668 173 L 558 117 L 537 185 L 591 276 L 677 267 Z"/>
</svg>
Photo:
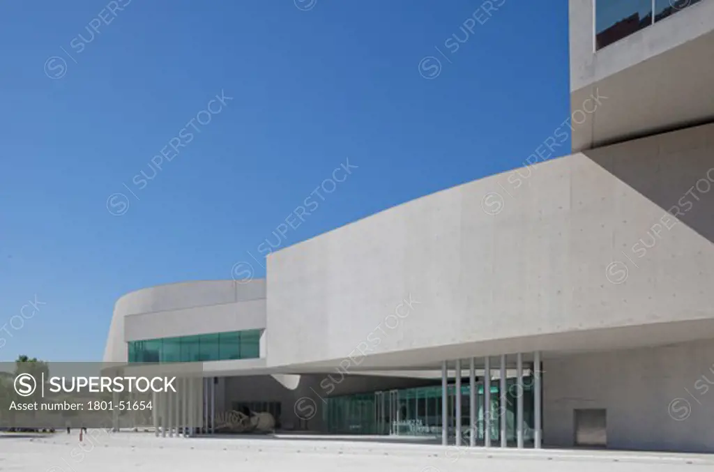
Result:
<svg viewBox="0 0 714 472">
<path fill-rule="evenodd" d="M 606 408 L 609 448 L 714 451 L 714 340 L 548 359 L 543 370 L 548 446 L 574 445 L 576 408 Z"/>
</svg>

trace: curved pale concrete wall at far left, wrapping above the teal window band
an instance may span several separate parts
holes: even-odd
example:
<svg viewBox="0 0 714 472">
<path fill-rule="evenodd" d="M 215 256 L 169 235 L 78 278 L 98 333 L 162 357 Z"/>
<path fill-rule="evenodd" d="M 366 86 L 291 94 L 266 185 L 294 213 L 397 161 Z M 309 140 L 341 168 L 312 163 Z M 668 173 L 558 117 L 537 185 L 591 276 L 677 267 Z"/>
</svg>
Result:
<svg viewBox="0 0 714 472">
<path fill-rule="evenodd" d="M 263 279 L 171 283 L 127 293 L 114 306 L 105 362 L 126 362 L 126 342 L 266 327 Z"/>
</svg>

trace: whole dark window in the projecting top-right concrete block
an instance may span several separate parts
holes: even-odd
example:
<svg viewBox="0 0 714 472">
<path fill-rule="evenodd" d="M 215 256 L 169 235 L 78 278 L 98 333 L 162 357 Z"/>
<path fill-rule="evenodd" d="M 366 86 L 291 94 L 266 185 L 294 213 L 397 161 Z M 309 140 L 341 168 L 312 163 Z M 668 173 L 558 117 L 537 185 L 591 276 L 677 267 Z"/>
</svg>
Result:
<svg viewBox="0 0 714 472">
<path fill-rule="evenodd" d="M 703 0 L 595 0 L 595 49 Z"/>
</svg>

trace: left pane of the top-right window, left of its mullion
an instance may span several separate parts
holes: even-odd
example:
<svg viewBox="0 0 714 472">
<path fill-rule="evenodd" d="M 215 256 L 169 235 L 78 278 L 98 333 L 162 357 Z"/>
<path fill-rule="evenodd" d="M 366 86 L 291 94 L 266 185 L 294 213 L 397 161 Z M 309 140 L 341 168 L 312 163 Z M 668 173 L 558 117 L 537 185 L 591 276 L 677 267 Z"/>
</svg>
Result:
<svg viewBox="0 0 714 472">
<path fill-rule="evenodd" d="M 665 1 L 669 2 L 669 0 Z M 595 49 L 613 44 L 650 24 L 652 24 L 652 0 L 597 0 Z"/>
</svg>

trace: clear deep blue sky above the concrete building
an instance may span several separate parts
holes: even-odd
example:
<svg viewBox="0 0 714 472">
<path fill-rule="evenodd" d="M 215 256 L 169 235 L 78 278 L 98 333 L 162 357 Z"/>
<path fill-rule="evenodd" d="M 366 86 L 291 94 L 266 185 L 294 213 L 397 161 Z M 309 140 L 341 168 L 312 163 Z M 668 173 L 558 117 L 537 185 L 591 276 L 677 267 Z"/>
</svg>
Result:
<svg viewBox="0 0 714 472">
<path fill-rule="evenodd" d="M 0 360 L 101 359 L 119 296 L 231 278 L 346 158 L 281 246 L 521 166 L 569 116 L 565 1 L 507 0 L 453 53 L 480 0 L 127 1 L 0 3 Z"/>
</svg>

